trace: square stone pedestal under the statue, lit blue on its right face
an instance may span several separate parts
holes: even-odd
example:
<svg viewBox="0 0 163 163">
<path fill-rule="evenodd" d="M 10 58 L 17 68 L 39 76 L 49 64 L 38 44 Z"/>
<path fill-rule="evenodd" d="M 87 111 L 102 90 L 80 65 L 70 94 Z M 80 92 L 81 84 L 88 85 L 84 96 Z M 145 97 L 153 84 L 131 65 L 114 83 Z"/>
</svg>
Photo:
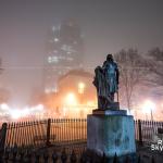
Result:
<svg viewBox="0 0 163 163">
<path fill-rule="evenodd" d="M 136 153 L 133 116 L 123 110 L 95 110 L 87 117 L 87 149 L 109 158 Z"/>
</svg>

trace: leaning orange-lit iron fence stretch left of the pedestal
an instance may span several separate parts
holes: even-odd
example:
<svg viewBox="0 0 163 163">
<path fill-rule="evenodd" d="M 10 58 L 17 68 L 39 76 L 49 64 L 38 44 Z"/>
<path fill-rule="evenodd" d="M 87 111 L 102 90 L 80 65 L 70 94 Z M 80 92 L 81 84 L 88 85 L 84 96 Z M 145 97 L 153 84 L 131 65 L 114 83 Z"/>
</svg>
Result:
<svg viewBox="0 0 163 163">
<path fill-rule="evenodd" d="M 9 123 L 5 147 L 49 146 L 74 143 L 87 139 L 87 123 L 80 118 L 48 118 L 34 122 Z"/>
</svg>

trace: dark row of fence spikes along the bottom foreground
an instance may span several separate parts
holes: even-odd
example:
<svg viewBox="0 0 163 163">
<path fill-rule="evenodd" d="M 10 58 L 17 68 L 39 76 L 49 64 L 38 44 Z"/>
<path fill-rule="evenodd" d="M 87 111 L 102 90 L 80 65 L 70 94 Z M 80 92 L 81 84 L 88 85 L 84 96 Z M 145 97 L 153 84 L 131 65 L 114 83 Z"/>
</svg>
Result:
<svg viewBox="0 0 163 163">
<path fill-rule="evenodd" d="M 3 154 L 0 154 L 0 163 L 156 163 L 158 159 L 151 154 L 148 159 L 142 154 L 126 154 L 117 156 L 115 153 L 113 158 L 95 154 L 83 148 L 63 148 L 58 149 L 42 149 L 35 150 L 33 148 L 11 148 L 5 149 Z M 160 161 L 159 161 L 160 162 Z M 158 162 L 158 163 L 159 163 Z"/>
</svg>

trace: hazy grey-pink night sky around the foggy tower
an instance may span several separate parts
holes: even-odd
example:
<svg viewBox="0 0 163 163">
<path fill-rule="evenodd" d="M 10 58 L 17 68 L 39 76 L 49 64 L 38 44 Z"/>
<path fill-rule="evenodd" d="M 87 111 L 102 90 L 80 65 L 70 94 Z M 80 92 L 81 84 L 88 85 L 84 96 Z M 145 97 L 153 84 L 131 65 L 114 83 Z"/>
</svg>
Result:
<svg viewBox="0 0 163 163">
<path fill-rule="evenodd" d="M 48 29 L 67 18 L 79 24 L 85 65 L 102 64 L 106 53 L 163 48 L 162 0 L 0 0 L 0 87 L 24 104 L 41 87 Z"/>
</svg>

